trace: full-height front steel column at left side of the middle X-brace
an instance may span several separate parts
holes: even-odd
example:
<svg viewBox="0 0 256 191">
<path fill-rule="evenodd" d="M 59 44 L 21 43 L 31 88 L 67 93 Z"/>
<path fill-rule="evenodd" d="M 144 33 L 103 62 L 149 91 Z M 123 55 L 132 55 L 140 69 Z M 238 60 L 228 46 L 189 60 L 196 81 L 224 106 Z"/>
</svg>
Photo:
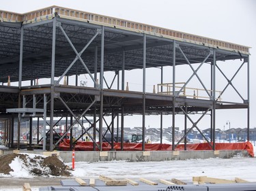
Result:
<svg viewBox="0 0 256 191">
<path fill-rule="evenodd" d="M 175 61 L 176 61 L 176 41 L 173 41 L 173 129 L 172 129 L 172 150 L 175 150 Z"/>
</svg>

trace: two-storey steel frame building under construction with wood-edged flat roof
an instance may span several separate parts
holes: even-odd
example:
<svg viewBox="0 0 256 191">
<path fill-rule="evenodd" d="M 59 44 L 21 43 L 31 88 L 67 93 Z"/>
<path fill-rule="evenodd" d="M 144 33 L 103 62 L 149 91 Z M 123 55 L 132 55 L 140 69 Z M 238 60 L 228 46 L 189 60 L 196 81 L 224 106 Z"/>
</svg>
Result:
<svg viewBox="0 0 256 191">
<path fill-rule="evenodd" d="M 162 115 L 171 115 L 173 150 L 184 140 L 186 145 L 186 137 L 193 128 L 214 150 L 217 109 L 246 109 L 249 128 L 249 47 L 57 6 L 26 14 L 0 13 L 0 116 L 2 131 L 10 147 L 17 141 L 17 148 L 20 148 L 20 120 L 25 117 L 31 121 L 30 135 L 33 118 L 44 118 L 44 128 L 46 118 L 50 119 L 50 151 L 68 132 L 72 136 L 71 130 L 76 124 L 94 142 L 95 150 L 102 150 L 102 136 L 106 134 L 102 126 L 106 116 L 111 116 L 111 123 L 106 124 L 107 132 L 113 135 L 114 130 L 119 129 L 123 147 L 124 116 L 141 115 L 143 150 L 145 116 L 148 114 L 160 116 L 161 143 Z M 218 66 L 219 61 L 225 60 L 240 62 L 231 78 Z M 193 72 L 183 83 L 176 82 L 176 70 L 180 65 Z M 207 66 L 210 73 L 210 86 L 206 86 L 199 75 L 203 66 Z M 172 70 L 170 83 L 163 82 L 166 67 Z M 243 67 L 247 75 L 245 97 L 232 83 Z M 146 91 L 147 68 L 161 71 L 157 88 L 154 86 L 152 92 Z M 126 84 L 125 73 L 133 69 L 142 71 L 141 91 L 131 91 Z M 217 71 L 227 80 L 220 92 L 216 90 Z M 106 81 L 106 72 L 114 73 L 111 84 Z M 78 76 L 85 73 L 92 86 L 79 86 Z M 69 82 L 70 76 L 76 76 L 75 84 Z M 45 78 L 51 79 L 51 83 L 38 84 L 38 80 Z M 187 84 L 192 79 L 197 79 L 202 88 L 193 88 L 193 94 L 188 94 Z M 25 82 L 30 85 L 25 86 Z M 235 90 L 241 101 L 221 99 L 228 87 Z M 198 111 L 201 116 L 193 121 L 190 114 Z M 175 144 L 176 114 L 184 115 L 185 135 Z M 210 114 L 211 140 L 198 126 L 206 114 Z M 88 116 L 93 116 L 93 122 Z M 59 141 L 53 143 L 56 117 L 69 118 L 70 124 L 66 125 L 69 128 L 60 135 Z M 88 120 L 89 128 L 83 125 L 82 119 Z M 15 120 L 18 140 L 14 140 Z M 94 133 L 90 134 L 90 129 Z M 46 143 L 46 136 L 43 137 Z M 96 137 L 99 140 L 96 141 Z M 30 147 L 31 142 L 32 136 L 29 137 Z M 45 144 L 43 149 L 46 149 Z"/>
</svg>

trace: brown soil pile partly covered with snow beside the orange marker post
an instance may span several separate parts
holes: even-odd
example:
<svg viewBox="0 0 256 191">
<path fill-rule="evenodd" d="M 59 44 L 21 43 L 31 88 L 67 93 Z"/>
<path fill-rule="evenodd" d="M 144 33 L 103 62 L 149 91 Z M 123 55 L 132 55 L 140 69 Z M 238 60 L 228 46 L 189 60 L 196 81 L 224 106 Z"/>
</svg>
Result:
<svg viewBox="0 0 256 191">
<path fill-rule="evenodd" d="M 30 169 L 29 173 L 32 175 L 70 176 L 69 168 L 57 156 L 48 156 L 46 158 L 35 156 L 34 158 L 29 158 L 27 154 L 7 154 L 0 156 L 0 173 L 9 175 L 13 171 L 9 164 L 16 157 L 23 161 L 25 166 Z"/>
</svg>

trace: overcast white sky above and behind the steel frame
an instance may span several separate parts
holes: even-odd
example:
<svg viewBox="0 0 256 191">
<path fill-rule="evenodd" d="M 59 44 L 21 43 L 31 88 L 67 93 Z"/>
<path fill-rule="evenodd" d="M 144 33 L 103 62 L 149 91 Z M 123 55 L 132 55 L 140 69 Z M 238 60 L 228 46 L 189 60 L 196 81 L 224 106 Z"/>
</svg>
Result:
<svg viewBox="0 0 256 191">
<path fill-rule="evenodd" d="M 59 5 L 69 7 L 75 10 L 83 10 L 85 12 L 93 12 L 117 18 L 124 18 L 136 22 L 152 24 L 158 27 L 165 27 L 195 35 L 211 37 L 223 41 L 230 41 L 235 44 L 251 46 L 250 57 L 250 75 L 251 75 L 251 127 L 256 127 L 256 1 L 253 0 L 194 0 L 194 1 L 167 1 L 167 0 L 129 0 L 129 1 L 78 1 L 78 0 L 44 0 L 44 1 L 4 1 L 1 3 L 0 10 L 8 10 L 11 12 L 30 12 L 48 7 L 51 5 Z M 236 69 L 232 69 L 229 65 L 229 77 L 233 76 Z M 227 68 L 226 68 L 227 69 Z M 246 94 L 246 66 L 244 73 L 238 75 L 235 86 L 238 86 L 247 98 Z M 244 75 L 245 74 L 245 75 Z M 171 79 L 171 77 L 170 77 Z M 177 80 L 176 80 L 177 81 Z M 225 80 L 223 80 L 225 82 Z M 222 81 L 220 82 L 222 83 Z M 220 84 L 220 86 L 225 86 Z M 232 91 L 231 91 L 232 92 Z M 226 95 L 233 97 L 230 93 Z M 231 128 L 244 128 L 246 124 L 246 109 L 233 111 L 218 111 L 216 116 L 216 128 L 223 128 L 227 120 L 231 123 Z M 169 118 L 169 119 L 168 119 Z M 195 117 L 199 118 L 199 116 Z M 208 117 L 206 117 L 208 118 Z M 209 119 L 209 118 L 208 118 Z M 183 117 L 176 120 L 176 126 L 182 127 Z M 141 121 L 134 121 L 127 118 L 126 126 L 141 126 Z M 159 117 L 147 117 L 146 126 L 159 126 Z M 208 127 L 209 122 L 202 124 L 204 128 Z M 171 126 L 171 117 L 165 117 L 164 127 Z M 228 128 L 228 126 L 225 126 Z"/>
</svg>

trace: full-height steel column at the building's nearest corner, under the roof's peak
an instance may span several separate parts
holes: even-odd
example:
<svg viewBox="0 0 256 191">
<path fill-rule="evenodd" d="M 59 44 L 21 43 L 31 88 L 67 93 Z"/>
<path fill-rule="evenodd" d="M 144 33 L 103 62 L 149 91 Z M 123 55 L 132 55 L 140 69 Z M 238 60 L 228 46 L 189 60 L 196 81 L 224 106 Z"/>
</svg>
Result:
<svg viewBox="0 0 256 191">
<path fill-rule="evenodd" d="M 56 18 L 53 18 L 53 45 L 51 61 L 51 114 L 50 114 L 50 151 L 53 151 L 53 116 L 54 116 L 54 96 L 55 96 L 55 44 L 56 44 Z"/>
</svg>

